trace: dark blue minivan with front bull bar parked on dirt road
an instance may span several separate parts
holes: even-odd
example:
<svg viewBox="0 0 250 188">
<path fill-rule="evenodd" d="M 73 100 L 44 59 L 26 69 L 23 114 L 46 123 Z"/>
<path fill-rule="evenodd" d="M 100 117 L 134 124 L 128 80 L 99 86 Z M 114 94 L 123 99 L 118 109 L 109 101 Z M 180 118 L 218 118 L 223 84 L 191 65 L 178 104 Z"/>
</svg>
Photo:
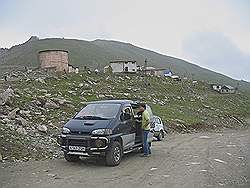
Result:
<svg viewBox="0 0 250 188">
<path fill-rule="evenodd" d="M 65 159 L 71 162 L 80 156 L 99 155 L 109 166 L 120 164 L 123 154 L 142 147 L 141 121 L 134 112 L 137 108 L 138 103 L 130 100 L 88 103 L 64 125 L 59 136 Z M 148 105 L 147 111 L 153 118 Z"/>
</svg>

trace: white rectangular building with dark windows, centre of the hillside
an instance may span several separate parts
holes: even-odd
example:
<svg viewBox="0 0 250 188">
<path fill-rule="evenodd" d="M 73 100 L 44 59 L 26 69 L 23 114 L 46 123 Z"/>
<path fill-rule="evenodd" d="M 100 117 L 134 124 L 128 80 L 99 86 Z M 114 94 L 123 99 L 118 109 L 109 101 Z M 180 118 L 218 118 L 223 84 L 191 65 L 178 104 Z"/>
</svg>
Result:
<svg viewBox="0 0 250 188">
<path fill-rule="evenodd" d="M 136 73 L 136 61 L 111 61 L 110 66 L 113 73 Z"/>
</svg>

